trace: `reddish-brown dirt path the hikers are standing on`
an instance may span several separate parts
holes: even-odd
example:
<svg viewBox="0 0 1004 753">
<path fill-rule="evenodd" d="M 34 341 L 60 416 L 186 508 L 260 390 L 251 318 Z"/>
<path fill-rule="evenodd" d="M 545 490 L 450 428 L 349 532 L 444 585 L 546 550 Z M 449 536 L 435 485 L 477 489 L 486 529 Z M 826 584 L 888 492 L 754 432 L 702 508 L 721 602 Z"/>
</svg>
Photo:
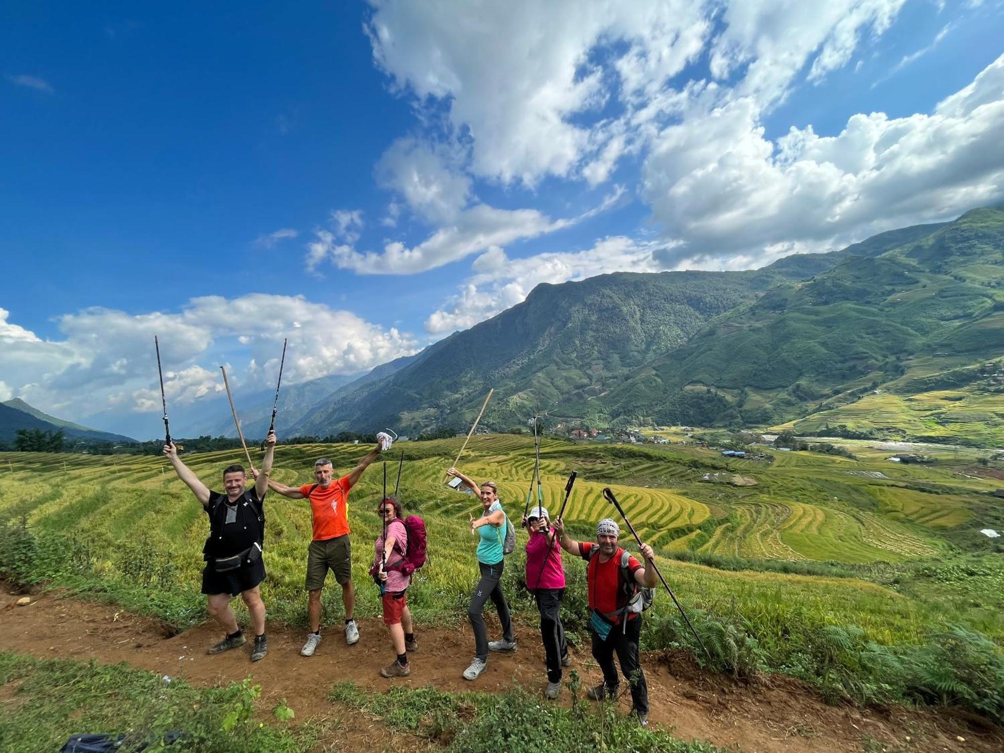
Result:
<svg viewBox="0 0 1004 753">
<path fill-rule="evenodd" d="M 316 656 L 299 656 L 300 632 L 272 629 L 269 655 L 251 664 L 248 648 L 211 657 L 206 647 L 219 640 L 219 631 L 200 624 L 173 638 L 154 619 L 114 606 L 96 604 L 57 593 L 32 596 L 28 606 L 15 606 L 17 596 L 0 589 L 0 646 L 45 658 L 67 658 L 129 664 L 193 684 L 213 685 L 250 675 L 262 686 L 263 703 L 271 708 L 285 698 L 297 718 L 341 716 L 343 710 L 326 700 L 332 684 L 353 680 L 371 691 L 392 683 L 406 687 L 432 685 L 444 691 L 495 692 L 513 685 L 542 690 L 546 683 L 543 651 L 531 628 L 517 631 L 516 654 L 493 656 L 476 683 L 461 678 L 473 643 L 466 630 L 429 629 L 418 633 L 419 652 L 412 676 L 389 681 L 378 672 L 393 660 L 384 625 L 363 620 L 361 640 L 346 647 L 340 633 L 325 634 Z M 832 707 L 823 704 L 802 683 L 773 677 L 754 685 L 699 672 L 686 657 L 650 655 L 644 662 L 649 681 L 652 721 L 674 728 L 677 737 L 699 738 L 722 747 L 739 745 L 746 753 L 807 751 L 993 751 L 1004 749 L 1004 732 L 968 724 L 948 711 L 888 712 Z M 574 656 L 583 682 L 598 682 L 599 671 L 587 654 Z M 567 691 L 564 702 L 567 703 Z M 622 699 L 623 711 L 630 706 Z M 386 729 L 352 725 L 352 736 L 369 749 L 375 740 L 387 742 Z M 364 725 L 362 725 L 364 726 Z M 960 742 L 958 737 L 965 738 Z M 396 736 L 398 737 L 398 736 Z M 407 747 L 414 749 L 414 743 Z M 877 747 L 875 744 L 877 743 Z M 423 746 L 424 747 L 424 746 Z"/>
</svg>

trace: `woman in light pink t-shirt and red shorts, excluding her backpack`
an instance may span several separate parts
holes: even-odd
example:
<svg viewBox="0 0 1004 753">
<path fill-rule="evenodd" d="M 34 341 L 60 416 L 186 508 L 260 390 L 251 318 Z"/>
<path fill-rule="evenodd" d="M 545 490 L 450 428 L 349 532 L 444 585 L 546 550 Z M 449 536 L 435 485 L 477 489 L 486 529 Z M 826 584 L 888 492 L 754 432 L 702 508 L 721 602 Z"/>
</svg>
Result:
<svg viewBox="0 0 1004 753">
<path fill-rule="evenodd" d="M 384 596 L 384 624 L 391 630 L 391 643 L 398 658 L 389 667 L 380 671 L 384 677 L 408 677 L 412 674 L 412 664 L 408 652 L 418 651 L 419 645 L 412 632 L 412 613 L 408 610 L 406 593 L 412 578 L 396 568 L 408 552 L 408 531 L 401 511 L 401 502 L 395 497 L 381 501 L 378 511 L 385 521 L 387 542 L 384 531 L 373 544 L 373 569 L 381 593 Z"/>
</svg>

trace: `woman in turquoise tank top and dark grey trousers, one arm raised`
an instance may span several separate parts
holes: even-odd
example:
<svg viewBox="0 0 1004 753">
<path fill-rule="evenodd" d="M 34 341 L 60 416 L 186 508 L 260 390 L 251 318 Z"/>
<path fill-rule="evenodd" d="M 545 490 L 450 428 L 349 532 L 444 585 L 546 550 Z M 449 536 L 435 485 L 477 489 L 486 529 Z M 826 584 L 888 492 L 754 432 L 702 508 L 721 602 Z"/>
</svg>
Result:
<svg viewBox="0 0 1004 753">
<path fill-rule="evenodd" d="M 471 596 L 467 608 L 467 618 L 474 630 L 475 657 L 471 666 L 464 670 L 465 680 L 477 680 L 478 676 L 488 666 L 488 652 L 514 652 L 516 641 L 512 635 L 512 617 L 509 614 L 509 604 L 502 592 L 502 570 L 505 567 L 504 541 L 506 534 L 506 514 L 502 503 L 498 500 L 498 488 L 494 481 L 483 484 L 476 483 L 456 468 L 447 473 L 456 476 L 470 489 L 481 497 L 481 517 L 471 515 L 471 533 L 478 536 L 478 569 L 481 577 Z M 491 599 L 499 613 L 502 623 L 502 640 L 489 641 L 488 626 L 483 615 L 485 601 Z"/>
</svg>

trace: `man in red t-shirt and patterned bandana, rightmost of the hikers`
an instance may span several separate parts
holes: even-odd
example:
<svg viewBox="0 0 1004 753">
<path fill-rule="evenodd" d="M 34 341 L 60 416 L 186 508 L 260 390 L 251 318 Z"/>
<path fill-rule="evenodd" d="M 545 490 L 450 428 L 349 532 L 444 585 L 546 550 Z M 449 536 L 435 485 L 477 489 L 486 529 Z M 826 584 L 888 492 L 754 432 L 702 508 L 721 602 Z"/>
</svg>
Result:
<svg viewBox="0 0 1004 753">
<path fill-rule="evenodd" d="M 564 531 L 564 521 L 554 520 L 554 531 L 560 536 L 561 548 L 569 554 L 582 557 L 585 582 L 589 590 L 589 630 L 592 633 L 592 656 L 603 671 L 603 682 L 590 688 L 586 696 L 593 701 L 616 698 L 620 679 L 613 666 L 613 654 L 620 661 L 620 670 L 631 683 L 632 713 L 644 726 L 649 719 L 649 686 L 639 661 L 638 643 L 642 635 L 642 614 L 632 611 L 629 604 L 637 588 L 653 588 L 657 582 L 653 564 L 655 553 L 648 544 L 642 544 L 645 559 L 643 566 L 635 557 L 628 556 L 628 566 L 622 567 L 624 550 L 617 546 L 620 527 L 610 518 L 596 525 L 596 542 L 578 542 Z M 629 580 L 625 582 L 625 578 Z"/>
</svg>

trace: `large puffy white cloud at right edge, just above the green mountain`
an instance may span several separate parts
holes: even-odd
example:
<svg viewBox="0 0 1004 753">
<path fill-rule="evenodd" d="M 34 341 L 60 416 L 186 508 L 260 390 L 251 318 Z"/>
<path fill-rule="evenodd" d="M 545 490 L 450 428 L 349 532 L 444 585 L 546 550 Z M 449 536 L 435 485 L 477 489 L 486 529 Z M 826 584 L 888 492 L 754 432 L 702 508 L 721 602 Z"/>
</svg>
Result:
<svg viewBox="0 0 1004 753">
<path fill-rule="evenodd" d="M 828 247 L 960 214 L 1004 194 L 1004 55 L 931 114 L 855 114 L 835 137 L 764 138 L 740 98 L 667 128 L 643 196 L 692 255 Z"/>
</svg>

